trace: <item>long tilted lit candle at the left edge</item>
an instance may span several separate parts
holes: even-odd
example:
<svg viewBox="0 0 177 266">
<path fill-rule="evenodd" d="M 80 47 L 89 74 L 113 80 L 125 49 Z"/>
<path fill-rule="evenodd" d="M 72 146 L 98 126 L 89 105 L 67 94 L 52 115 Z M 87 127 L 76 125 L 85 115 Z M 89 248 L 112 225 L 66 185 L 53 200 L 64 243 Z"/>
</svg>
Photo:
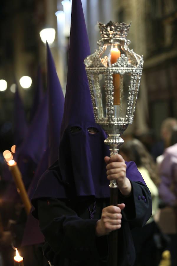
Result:
<svg viewBox="0 0 177 266">
<path fill-rule="evenodd" d="M 9 166 L 9 170 L 11 171 L 12 176 L 14 178 L 14 182 L 16 184 L 17 191 L 20 194 L 20 197 L 21 197 L 22 202 L 24 204 L 24 208 L 26 210 L 26 213 L 29 214 L 32 205 L 31 205 L 30 199 L 28 197 L 27 191 L 25 189 L 25 186 L 24 186 L 24 183 L 22 180 L 22 175 L 19 171 L 17 163 L 14 160 L 10 160 L 7 164 Z"/>
</svg>

